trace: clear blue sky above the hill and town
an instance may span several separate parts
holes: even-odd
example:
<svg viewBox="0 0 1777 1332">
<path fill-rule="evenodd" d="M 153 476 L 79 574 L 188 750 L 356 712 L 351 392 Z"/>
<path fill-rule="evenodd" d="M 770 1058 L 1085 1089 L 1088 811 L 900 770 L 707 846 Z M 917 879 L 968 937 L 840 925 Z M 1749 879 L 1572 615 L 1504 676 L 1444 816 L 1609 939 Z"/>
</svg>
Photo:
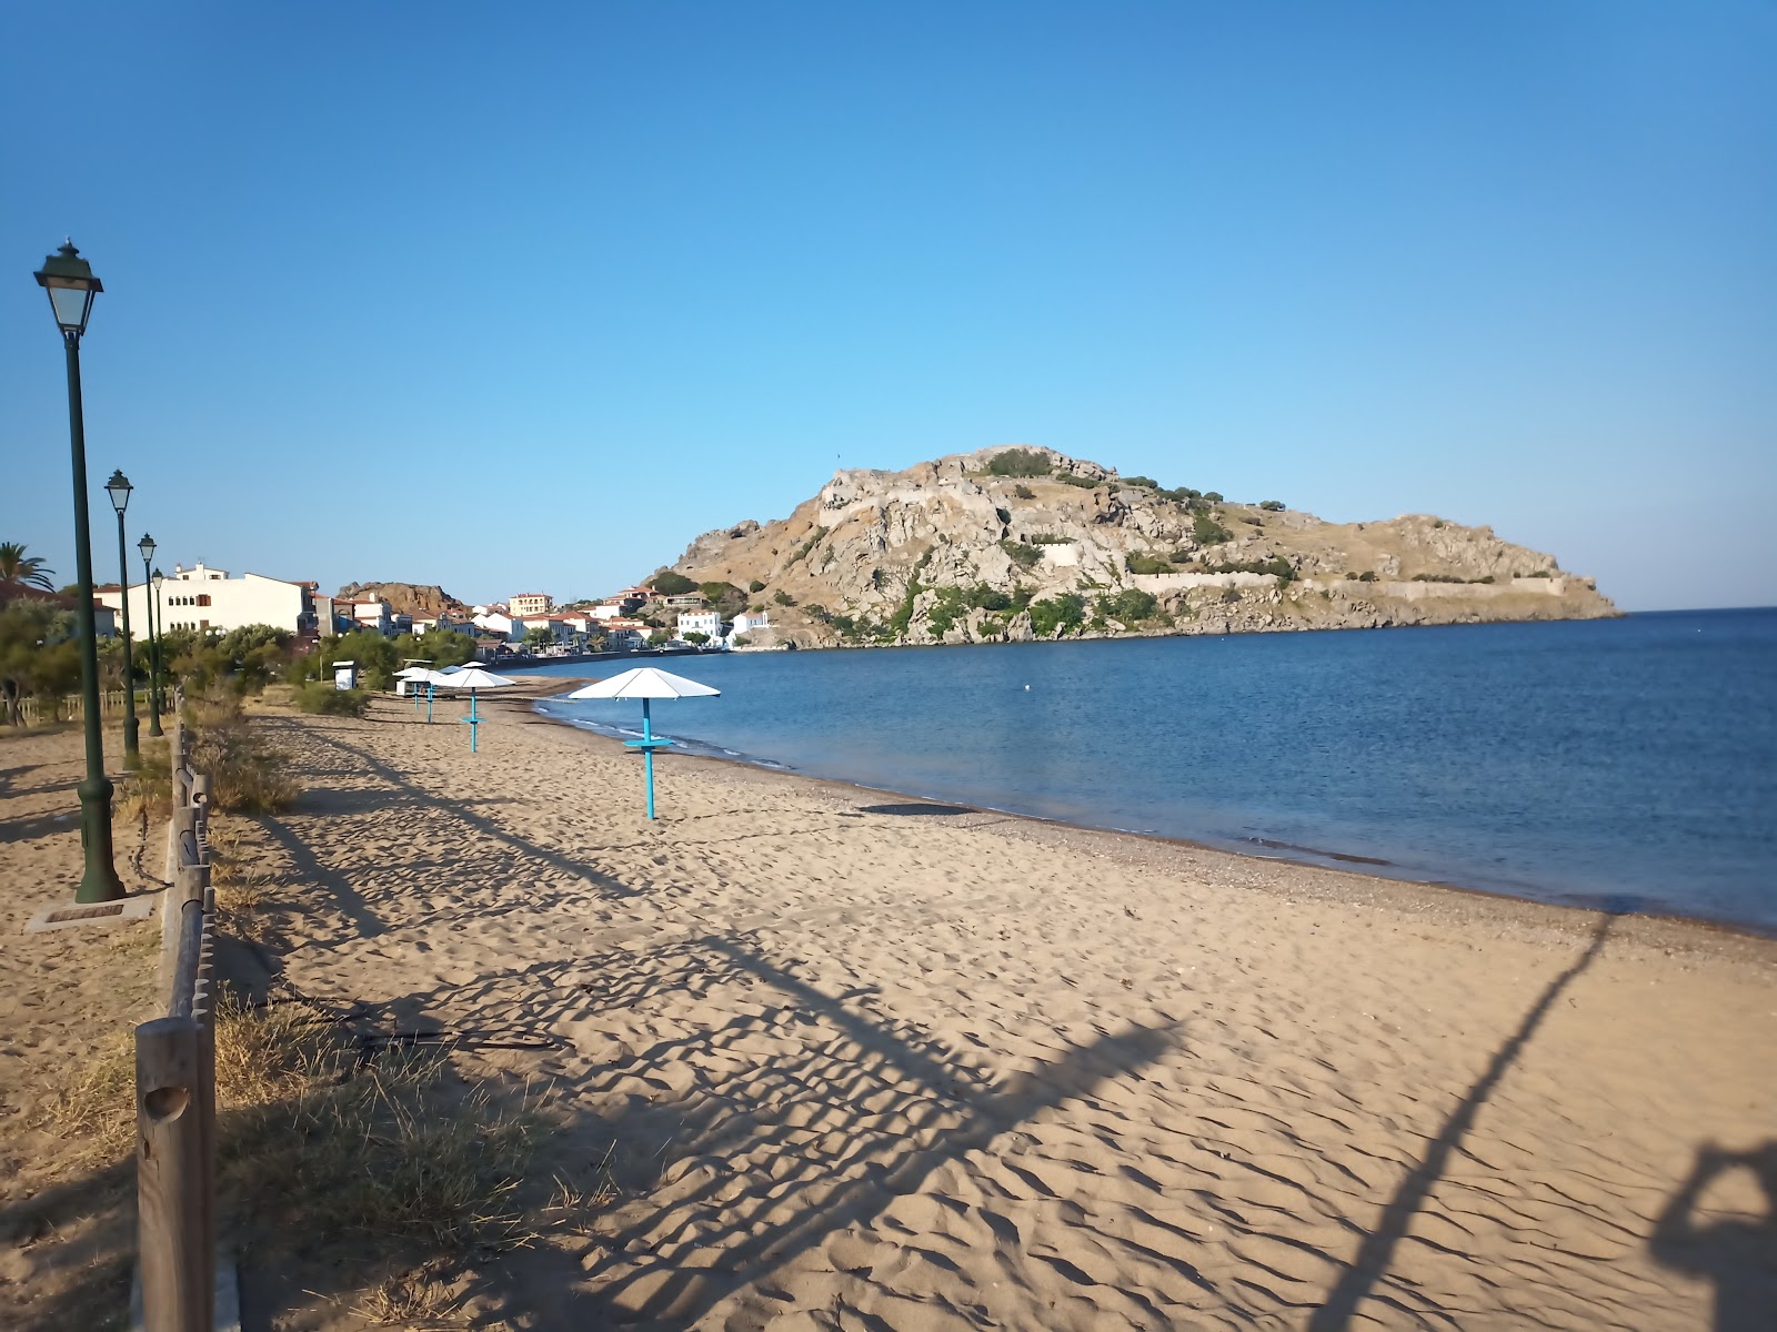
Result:
<svg viewBox="0 0 1777 1332">
<path fill-rule="evenodd" d="M 0 540 L 620 586 L 1047 444 L 1777 602 L 1777 4 L 7 5 Z"/>
</svg>

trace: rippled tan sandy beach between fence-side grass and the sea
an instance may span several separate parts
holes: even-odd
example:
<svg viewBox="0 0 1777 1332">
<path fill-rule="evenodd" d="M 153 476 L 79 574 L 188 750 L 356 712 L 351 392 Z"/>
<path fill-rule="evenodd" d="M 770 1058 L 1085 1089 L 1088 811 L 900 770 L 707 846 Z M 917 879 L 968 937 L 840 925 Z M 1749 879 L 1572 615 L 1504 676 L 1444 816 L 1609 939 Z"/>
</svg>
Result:
<svg viewBox="0 0 1777 1332">
<path fill-rule="evenodd" d="M 606 1188 L 464 1325 L 1773 1325 L 1770 941 L 697 758 L 650 824 L 490 716 L 256 723 L 261 961 L 547 1083 L 540 1170 Z"/>
</svg>

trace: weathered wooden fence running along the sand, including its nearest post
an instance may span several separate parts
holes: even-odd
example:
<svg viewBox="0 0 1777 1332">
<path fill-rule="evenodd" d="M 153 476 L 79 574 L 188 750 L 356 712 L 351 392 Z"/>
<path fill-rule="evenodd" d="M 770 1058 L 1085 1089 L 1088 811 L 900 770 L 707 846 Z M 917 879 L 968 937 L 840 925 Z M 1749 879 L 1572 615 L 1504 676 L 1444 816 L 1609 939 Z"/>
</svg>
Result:
<svg viewBox="0 0 1777 1332">
<path fill-rule="evenodd" d="M 210 778 L 174 718 L 172 821 L 160 931 L 165 1016 L 135 1028 L 137 1243 L 142 1332 L 215 1325 L 215 890 Z"/>
</svg>

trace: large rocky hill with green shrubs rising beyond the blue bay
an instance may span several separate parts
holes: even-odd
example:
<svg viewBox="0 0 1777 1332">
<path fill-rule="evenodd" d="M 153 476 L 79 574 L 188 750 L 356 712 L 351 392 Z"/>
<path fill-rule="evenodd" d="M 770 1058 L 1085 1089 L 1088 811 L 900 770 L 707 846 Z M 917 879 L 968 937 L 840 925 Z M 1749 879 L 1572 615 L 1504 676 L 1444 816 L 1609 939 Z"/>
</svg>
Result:
<svg viewBox="0 0 1777 1332">
<path fill-rule="evenodd" d="M 659 570 L 656 577 L 659 577 Z M 1322 522 L 1041 448 L 841 471 L 775 522 L 672 565 L 798 646 L 1370 629 L 1615 614 L 1589 577 L 1491 527 Z"/>
</svg>

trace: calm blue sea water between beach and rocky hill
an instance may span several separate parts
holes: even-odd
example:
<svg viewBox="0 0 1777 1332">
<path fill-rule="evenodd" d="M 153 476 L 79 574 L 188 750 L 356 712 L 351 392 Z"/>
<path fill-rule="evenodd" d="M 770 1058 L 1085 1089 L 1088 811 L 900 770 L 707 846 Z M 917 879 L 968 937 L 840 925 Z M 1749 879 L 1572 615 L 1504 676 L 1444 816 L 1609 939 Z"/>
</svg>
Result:
<svg viewBox="0 0 1777 1332">
<path fill-rule="evenodd" d="M 723 691 L 656 705 L 695 751 L 1777 934 L 1777 609 L 661 666 Z"/>
</svg>

